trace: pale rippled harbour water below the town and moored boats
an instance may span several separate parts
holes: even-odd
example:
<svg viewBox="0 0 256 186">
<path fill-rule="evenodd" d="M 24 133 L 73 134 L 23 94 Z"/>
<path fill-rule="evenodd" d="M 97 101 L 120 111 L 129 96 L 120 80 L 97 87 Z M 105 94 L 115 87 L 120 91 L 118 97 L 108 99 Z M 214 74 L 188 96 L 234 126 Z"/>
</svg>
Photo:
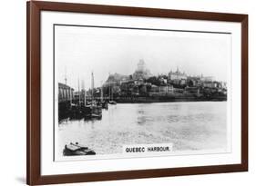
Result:
<svg viewBox="0 0 256 186">
<path fill-rule="evenodd" d="M 59 155 L 79 142 L 97 154 L 121 153 L 123 145 L 173 143 L 173 151 L 227 148 L 227 103 L 118 103 L 101 120 L 58 124 Z"/>
</svg>

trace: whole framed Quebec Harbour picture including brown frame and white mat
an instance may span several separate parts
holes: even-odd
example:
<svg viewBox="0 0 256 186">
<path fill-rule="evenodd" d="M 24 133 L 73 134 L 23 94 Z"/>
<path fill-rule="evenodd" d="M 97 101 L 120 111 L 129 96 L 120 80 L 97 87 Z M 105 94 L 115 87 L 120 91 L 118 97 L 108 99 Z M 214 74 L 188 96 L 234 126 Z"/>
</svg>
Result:
<svg viewBox="0 0 256 186">
<path fill-rule="evenodd" d="M 248 15 L 27 3 L 27 184 L 248 170 Z"/>
</svg>

